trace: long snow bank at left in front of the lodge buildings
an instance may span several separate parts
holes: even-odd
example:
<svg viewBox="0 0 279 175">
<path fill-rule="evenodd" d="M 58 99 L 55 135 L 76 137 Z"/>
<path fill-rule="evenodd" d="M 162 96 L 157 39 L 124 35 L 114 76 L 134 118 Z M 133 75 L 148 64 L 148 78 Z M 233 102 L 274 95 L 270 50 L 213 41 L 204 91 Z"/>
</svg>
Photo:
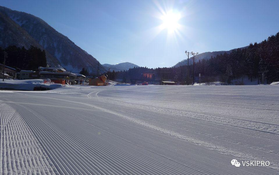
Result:
<svg viewBox="0 0 279 175">
<path fill-rule="evenodd" d="M 34 87 L 46 87 L 56 89 L 62 87 L 61 84 L 44 84 L 43 79 L 25 79 L 25 80 L 9 80 L 0 81 L 1 89 L 15 89 L 33 91 Z"/>
</svg>

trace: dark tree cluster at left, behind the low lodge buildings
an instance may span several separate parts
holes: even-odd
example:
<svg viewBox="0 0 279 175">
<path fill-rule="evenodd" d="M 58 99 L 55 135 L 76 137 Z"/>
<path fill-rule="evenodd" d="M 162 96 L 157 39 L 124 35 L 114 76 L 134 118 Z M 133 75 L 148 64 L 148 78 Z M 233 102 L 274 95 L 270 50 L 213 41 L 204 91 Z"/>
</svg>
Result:
<svg viewBox="0 0 279 175">
<path fill-rule="evenodd" d="M 46 66 L 47 59 L 45 50 L 30 46 L 25 47 L 9 46 L 5 49 L 0 47 L 0 62 L 3 63 L 4 52 L 8 54 L 5 64 L 18 69 L 36 70 L 39 66 Z"/>
</svg>

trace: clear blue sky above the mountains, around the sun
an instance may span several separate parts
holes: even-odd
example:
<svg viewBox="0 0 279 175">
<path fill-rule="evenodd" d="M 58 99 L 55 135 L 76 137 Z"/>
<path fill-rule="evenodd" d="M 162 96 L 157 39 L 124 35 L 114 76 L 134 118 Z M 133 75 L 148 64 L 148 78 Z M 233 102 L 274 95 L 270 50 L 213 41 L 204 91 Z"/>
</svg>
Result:
<svg viewBox="0 0 279 175">
<path fill-rule="evenodd" d="M 100 63 L 170 67 L 185 50 L 212 52 L 261 42 L 279 31 L 279 1 L 1 1 L 40 17 Z M 180 14 L 176 32 L 158 26 Z"/>
</svg>

